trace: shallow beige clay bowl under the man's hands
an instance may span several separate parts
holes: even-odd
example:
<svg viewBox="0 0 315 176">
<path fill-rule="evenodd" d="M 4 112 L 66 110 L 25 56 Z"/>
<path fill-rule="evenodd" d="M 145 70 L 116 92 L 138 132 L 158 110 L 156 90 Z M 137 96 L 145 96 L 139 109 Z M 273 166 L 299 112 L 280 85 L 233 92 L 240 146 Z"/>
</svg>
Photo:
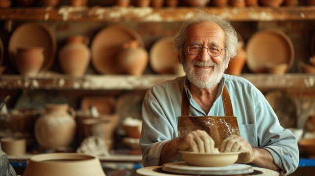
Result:
<svg viewBox="0 0 315 176">
<path fill-rule="evenodd" d="M 193 166 L 204 166 L 204 167 L 220 167 L 234 164 L 239 158 L 241 152 L 230 152 L 230 153 L 196 153 L 179 151 L 182 154 L 182 158 L 188 164 Z"/>
</svg>

